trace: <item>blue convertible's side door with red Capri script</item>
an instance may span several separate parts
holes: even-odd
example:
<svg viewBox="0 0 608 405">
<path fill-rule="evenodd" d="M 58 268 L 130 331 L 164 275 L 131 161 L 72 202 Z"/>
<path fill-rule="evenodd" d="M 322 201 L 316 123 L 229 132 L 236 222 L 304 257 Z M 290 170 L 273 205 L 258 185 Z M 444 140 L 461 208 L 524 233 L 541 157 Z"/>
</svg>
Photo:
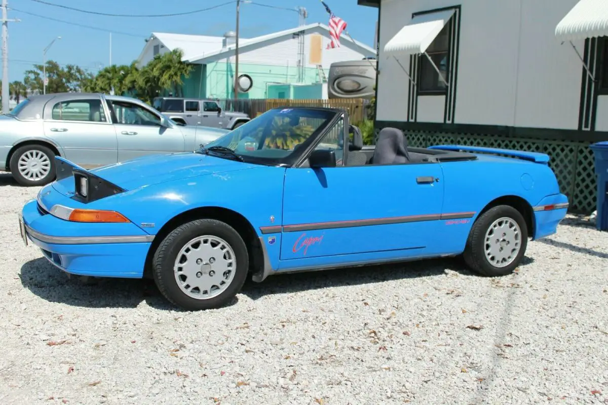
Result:
<svg viewBox="0 0 608 405">
<path fill-rule="evenodd" d="M 317 148 L 334 149 L 337 167 L 286 169 L 281 268 L 319 257 L 356 263 L 378 252 L 392 258 L 432 252 L 441 236 L 440 164 L 344 167 L 332 132 Z"/>
</svg>

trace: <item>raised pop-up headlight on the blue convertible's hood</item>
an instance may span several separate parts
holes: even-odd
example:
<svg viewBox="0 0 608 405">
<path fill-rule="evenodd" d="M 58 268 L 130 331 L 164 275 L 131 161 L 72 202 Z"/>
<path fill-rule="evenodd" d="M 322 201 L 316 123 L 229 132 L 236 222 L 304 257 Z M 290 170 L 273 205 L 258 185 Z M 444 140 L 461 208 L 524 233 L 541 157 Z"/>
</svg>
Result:
<svg viewBox="0 0 608 405">
<path fill-rule="evenodd" d="M 97 201 L 114 194 L 124 193 L 125 189 L 100 178 L 61 156 L 55 156 L 57 181 L 74 176 L 74 196 L 72 199 L 83 203 Z M 85 180 L 85 181 L 83 181 Z M 83 186 L 84 185 L 84 186 Z"/>
</svg>

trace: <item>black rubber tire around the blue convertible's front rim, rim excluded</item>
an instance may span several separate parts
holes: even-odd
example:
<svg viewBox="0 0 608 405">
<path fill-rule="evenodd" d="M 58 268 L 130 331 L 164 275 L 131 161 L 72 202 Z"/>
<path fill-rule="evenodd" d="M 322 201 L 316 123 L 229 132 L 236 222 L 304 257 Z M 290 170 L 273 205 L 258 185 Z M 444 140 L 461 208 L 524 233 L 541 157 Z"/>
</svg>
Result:
<svg viewBox="0 0 608 405">
<path fill-rule="evenodd" d="M 188 297 L 175 280 L 173 266 L 179 251 L 188 241 L 212 235 L 225 240 L 232 247 L 237 261 L 237 270 L 232 283 L 216 297 L 198 300 Z M 154 282 L 162 294 L 175 305 L 185 310 L 197 311 L 227 305 L 243 286 L 249 272 L 247 246 L 238 232 L 228 224 L 217 220 L 195 220 L 177 227 L 159 244 L 153 258 Z"/>
</svg>

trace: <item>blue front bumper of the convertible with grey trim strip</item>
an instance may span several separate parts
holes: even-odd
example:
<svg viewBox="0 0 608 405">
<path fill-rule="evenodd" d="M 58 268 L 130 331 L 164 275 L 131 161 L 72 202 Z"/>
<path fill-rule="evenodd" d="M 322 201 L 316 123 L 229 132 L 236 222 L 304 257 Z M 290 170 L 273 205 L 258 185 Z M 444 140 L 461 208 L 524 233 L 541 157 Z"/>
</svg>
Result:
<svg viewBox="0 0 608 405">
<path fill-rule="evenodd" d="M 153 235 L 132 223 L 73 223 L 50 215 L 36 200 L 22 209 L 24 239 L 70 274 L 142 278 Z M 105 228 L 105 229 L 103 229 Z"/>
</svg>

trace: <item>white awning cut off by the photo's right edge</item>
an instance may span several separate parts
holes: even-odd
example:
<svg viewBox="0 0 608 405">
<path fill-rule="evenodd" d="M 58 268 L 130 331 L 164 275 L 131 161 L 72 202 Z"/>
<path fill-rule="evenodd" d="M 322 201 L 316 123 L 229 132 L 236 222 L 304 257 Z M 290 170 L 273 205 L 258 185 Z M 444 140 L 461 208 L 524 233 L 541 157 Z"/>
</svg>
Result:
<svg viewBox="0 0 608 405">
<path fill-rule="evenodd" d="M 608 36 L 608 0 L 580 0 L 559 21 L 555 36 L 560 41 Z"/>
</svg>

